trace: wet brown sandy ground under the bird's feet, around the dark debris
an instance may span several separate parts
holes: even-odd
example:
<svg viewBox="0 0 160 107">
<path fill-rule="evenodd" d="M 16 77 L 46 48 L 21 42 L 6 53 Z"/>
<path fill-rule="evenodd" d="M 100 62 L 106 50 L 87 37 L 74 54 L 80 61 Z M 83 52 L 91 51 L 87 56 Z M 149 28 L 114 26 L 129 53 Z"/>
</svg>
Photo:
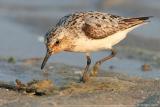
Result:
<svg viewBox="0 0 160 107">
<path fill-rule="evenodd" d="M 33 79 L 49 79 L 53 81 L 55 91 L 49 95 L 35 96 L 0 88 L 0 106 L 2 107 L 57 107 L 57 106 L 125 106 L 143 107 L 160 106 L 160 80 L 129 77 L 110 70 L 101 70 L 98 77 L 92 77 L 87 83 L 80 83 L 82 68 L 68 66 L 59 63 L 48 64 L 46 70 L 49 75 L 40 71 L 41 59 L 27 59 L 17 64 L 1 61 L 17 78 L 23 74 L 34 75 L 24 82 Z M 53 66 L 54 65 L 54 66 Z M 6 72 L 9 72 L 6 70 Z M 8 79 L 8 83 L 15 84 L 14 79 Z M 1 80 L 2 81 L 2 80 Z"/>
</svg>

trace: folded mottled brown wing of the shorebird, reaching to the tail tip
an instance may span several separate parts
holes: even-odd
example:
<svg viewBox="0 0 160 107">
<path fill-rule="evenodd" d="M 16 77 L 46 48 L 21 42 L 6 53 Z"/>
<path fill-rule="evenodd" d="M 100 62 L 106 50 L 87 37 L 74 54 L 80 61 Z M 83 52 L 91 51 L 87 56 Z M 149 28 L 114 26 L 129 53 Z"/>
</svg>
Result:
<svg viewBox="0 0 160 107">
<path fill-rule="evenodd" d="M 103 39 L 118 31 L 122 31 L 138 24 L 144 23 L 149 17 L 123 18 L 120 16 L 104 16 L 103 18 L 86 18 L 82 30 L 87 37 Z"/>
</svg>

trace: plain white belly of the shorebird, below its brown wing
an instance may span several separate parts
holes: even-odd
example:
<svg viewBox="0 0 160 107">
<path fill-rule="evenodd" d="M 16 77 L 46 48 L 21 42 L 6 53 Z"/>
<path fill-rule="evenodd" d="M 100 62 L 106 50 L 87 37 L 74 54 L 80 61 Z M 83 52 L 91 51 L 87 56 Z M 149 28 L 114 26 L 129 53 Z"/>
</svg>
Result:
<svg viewBox="0 0 160 107">
<path fill-rule="evenodd" d="M 135 26 L 138 27 L 138 26 Z M 111 49 L 112 46 L 116 45 L 120 41 L 122 41 L 128 32 L 133 30 L 135 27 L 130 29 L 120 31 L 113 35 L 110 35 L 103 39 L 88 39 L 88 38 L 79 38 L 75 43 L 75 48 L 71 51 L 74 52 L 94 52 L 94 51 L 102 51 Z"/>
</svg>

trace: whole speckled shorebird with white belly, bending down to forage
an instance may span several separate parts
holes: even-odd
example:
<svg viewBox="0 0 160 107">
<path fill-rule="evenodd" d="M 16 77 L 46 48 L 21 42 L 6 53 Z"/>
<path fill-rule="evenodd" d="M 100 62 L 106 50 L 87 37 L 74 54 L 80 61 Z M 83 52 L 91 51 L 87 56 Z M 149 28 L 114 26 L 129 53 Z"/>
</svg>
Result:
<svg viewBox="0 0 160 107">
<path fill-rule="evenodd" d="M 100 65 L 113 58 L 116 45 L 127 33 L 143 25 L 150 17 L 126 18 L 103 12 L 75 12 L 62 17 L 55 27 L 45 35 L 46 56 L 42 62 L 44 68 L 48 58 L 61 51 L 82 52 L 86 54 L 87 64 L 81 80 L 86 82 L 90 76 L 96 76 Z M 110 50 L 111 54 L 95 63 L 91 72 L 90 53 L 95 51 Z"/>
</svg>

